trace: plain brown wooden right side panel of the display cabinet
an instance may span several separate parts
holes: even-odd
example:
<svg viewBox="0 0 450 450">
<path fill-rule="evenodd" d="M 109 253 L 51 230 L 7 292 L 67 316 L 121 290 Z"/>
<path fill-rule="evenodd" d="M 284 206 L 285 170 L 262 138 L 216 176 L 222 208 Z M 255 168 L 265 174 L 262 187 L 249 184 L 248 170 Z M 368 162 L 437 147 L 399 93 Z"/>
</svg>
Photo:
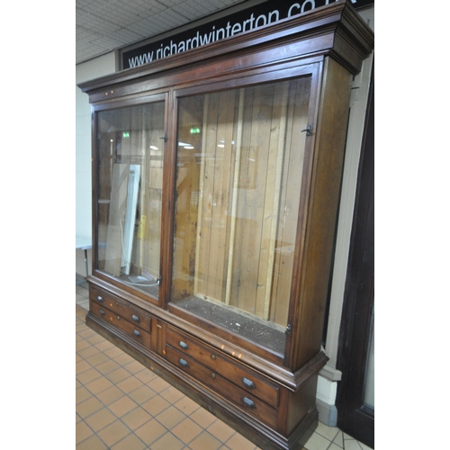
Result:
<svg viewBox="0 0 450 450">
<path fill-rule="evenodd" d="M 337 221 L 352 75 L 326 58 L 317 139 L 311 177 L 306 246 L 301 267 L 300 302 L 294 315 L 292 368 L 297 370 L 320 351 L 330 265 Z"/>
</svg>

